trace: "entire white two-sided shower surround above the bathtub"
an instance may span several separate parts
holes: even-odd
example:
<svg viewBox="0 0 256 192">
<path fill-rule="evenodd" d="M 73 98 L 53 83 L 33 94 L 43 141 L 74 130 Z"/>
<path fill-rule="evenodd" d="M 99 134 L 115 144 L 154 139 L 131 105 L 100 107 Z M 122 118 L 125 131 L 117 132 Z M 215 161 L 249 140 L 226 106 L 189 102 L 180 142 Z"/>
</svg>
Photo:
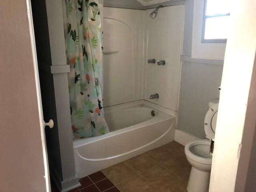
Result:
<svg viewBox="0 0 256 192">
<path fill-rule="evenodd" d="M 184 6 L 153 10 L 104 7 L 104 106 L 145 99 L 178 110 Z M 118 51 L 107 54 L 109 51 Z M 165 66 L 147 60 L 165 60 Z"/>
</svg>

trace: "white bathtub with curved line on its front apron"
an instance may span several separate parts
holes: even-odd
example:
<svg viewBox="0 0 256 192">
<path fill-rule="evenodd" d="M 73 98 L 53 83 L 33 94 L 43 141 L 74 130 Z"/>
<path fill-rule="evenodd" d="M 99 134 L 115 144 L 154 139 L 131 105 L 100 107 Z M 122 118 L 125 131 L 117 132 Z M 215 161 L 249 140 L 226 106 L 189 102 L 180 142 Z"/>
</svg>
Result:
<svg viewBox="0 0 256 192">
<path fill-rule="evenodd" d="M 105 118 L 109 133 L 73 141 L 79 178 L 174 140 L 174 116 L 147 106 L 105 110 Z"/>
</svg>

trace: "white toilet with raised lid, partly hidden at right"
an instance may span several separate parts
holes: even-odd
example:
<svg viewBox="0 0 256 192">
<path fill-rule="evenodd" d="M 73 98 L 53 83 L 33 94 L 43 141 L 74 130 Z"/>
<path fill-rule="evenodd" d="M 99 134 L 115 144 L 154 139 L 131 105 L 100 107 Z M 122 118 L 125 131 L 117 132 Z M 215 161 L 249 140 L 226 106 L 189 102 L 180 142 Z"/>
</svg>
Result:
<svg viewBox="0 0 256 192">
<path fill-rule="evenodd" d="M 187 186 L 188 192 L 208 192 L 209 190 L 212 166 L 210 140 L 215 136 L 218 105 L 218 100 L 209 102 L 209 110 L 204 119 L 204 131 L 208 139 L 192 141 L 185 146 L 186 158 L 192 166 Z"/>
</svg>

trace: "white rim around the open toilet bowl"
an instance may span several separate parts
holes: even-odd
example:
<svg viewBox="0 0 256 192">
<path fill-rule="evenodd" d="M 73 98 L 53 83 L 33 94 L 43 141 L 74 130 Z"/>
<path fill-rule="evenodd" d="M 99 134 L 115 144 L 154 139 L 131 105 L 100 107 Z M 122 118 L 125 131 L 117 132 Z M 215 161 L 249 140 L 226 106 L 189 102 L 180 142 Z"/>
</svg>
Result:
<svg viewBox="0 0 256 192">
<path fill-rule="evenodd" d="M 202 163 L 202 164 L 212 164 L 212 157 L 210 158 L 206 158 L 206 157 L 202 157 L 199 156 L 197 154 L 194 154 L 194 152 L 191 150 L 193 146 L 207 146 L 210 148 L 210 141 L 209 140 L 196 140 L 196 141 L 191 141 L 189 143 L 186 144 L 185 146 L 185 154 L 188 158 Z M 207 156 L 209 154 L 209 150 L 205 152 L 205 156 Z"/>
</svg>

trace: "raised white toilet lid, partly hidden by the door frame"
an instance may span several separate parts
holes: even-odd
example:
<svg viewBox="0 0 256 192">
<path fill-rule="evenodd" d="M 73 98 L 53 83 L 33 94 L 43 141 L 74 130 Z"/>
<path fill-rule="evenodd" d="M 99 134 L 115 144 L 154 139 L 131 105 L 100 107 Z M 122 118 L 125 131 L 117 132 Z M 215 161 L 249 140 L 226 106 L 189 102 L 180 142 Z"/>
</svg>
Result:
<svg viewBox="0 0 256 192">
<path fill-rule="evenodd" d="M 208 139 L 212 139 L 215 136 L 216 122 L 217 122 L 217 116 L 218 116 L 218 106 L 219 106 L 218 103 L 211 106 L 208 112 L 206 113 L 206 116 L 204 119 L 204 131 Z"/>
</svg>

